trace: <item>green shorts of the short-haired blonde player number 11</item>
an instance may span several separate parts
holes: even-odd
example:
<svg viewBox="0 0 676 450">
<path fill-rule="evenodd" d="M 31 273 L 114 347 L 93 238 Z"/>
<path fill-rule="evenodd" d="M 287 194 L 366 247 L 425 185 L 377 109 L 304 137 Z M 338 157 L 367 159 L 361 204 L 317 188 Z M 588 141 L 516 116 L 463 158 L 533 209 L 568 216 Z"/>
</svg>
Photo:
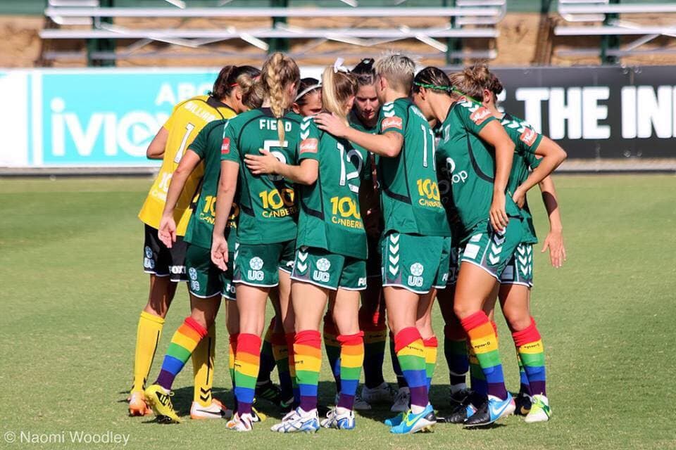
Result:
<svg viewBox="0 0 676 450">
<path fill-rule="evenodd" d="M 382 285 L 427 294 L 449 277 L 451 238 L 389 233 L 380 242 Z"/>
</svg>

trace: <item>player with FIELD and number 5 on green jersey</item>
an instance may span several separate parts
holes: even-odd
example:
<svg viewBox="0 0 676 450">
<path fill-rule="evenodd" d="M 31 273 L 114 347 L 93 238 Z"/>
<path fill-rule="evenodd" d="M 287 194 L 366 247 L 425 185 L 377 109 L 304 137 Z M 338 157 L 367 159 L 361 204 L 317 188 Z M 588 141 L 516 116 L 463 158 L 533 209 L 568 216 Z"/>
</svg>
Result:
<svg viewBox="0 0 676 450">
<path fill-rule="evenodd" d="M 263 107 L 226 122 L 221 146 L 211 259 L 221 270 L 234 263 L 233 281 L 239 309 L 239 336 L 234 349 L 237 413 L 227 428 L 237 431 L 252 429 L 251 406 L 260 364 L 265 302 L 270 289 L 277 285 L 280 285 L 284 330 L 293 336 L 288 270 L 293 266 L 298 213 L 293 184 L 282 176 L 252 174 L 244 165 L 244 157 L 272 154 L 282 162 L 296 163 L 301 117 L 290 108 L 300 79 L 294 60 L 282 53 L 271 55 L 263 65 L 259 80 Z M 223 231 L 237 192 L 237 244 L 230 249 Z M 234 250 L 233 258 L 229 255 L 231 250 Z M 289 346 L 290 368 L 292 348 Z"/>
</svg>

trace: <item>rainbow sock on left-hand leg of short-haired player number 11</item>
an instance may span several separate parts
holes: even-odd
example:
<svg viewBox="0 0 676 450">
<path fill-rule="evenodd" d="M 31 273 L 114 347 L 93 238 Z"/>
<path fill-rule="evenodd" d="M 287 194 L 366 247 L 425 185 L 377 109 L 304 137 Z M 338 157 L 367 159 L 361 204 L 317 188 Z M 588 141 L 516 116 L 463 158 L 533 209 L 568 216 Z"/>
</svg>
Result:
<svg viewBox="0 0 676 450">
<path fill-rule="evenodd" d="M 418 328 L 409 327 L 394 336 L 396 359 L 403 377 L 411 390 L 411 405 L 425 408 L 430 403 L 427 397 L 427 376 L 425 374 L 425 345 Z"/>
</svg>

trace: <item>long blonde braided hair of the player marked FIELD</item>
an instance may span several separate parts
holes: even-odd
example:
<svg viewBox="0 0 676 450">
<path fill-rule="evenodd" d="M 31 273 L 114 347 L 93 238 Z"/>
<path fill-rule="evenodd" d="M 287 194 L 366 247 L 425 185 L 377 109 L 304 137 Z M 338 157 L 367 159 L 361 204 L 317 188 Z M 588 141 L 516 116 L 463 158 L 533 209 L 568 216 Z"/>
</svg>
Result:
<svg viewBox="0 0 676 450">
<path fill-rule="evenodd" d="M 277 136 L 280 142 L 284 141 L 284 111 L 289 108 L 293 98 L 286 98 L 286 89 L 289 84 L 299 85 L 301 71 L 296 62 L 283 53 L 273 53 L 263 64 L 261 82 L 265 89 L 265 96 L 270 101 L 270 110 L 277 117 Z"/>
</svg>

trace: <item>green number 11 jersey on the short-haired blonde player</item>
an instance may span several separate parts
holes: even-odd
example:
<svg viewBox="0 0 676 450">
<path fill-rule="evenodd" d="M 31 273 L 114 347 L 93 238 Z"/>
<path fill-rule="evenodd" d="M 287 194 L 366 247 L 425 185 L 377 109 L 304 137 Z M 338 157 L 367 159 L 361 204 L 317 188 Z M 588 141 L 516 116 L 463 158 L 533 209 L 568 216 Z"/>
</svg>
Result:
<svg viewBox="0 0 676 450">
<path fill-rule="evenodd" d="M 399 155 L 378 161 L 384 233 L 450 236 L 434 169 L 434 133 L 423 113 L 408 98 L 385 103 L 378 132 L 403 136 Z"/>
</svg>

